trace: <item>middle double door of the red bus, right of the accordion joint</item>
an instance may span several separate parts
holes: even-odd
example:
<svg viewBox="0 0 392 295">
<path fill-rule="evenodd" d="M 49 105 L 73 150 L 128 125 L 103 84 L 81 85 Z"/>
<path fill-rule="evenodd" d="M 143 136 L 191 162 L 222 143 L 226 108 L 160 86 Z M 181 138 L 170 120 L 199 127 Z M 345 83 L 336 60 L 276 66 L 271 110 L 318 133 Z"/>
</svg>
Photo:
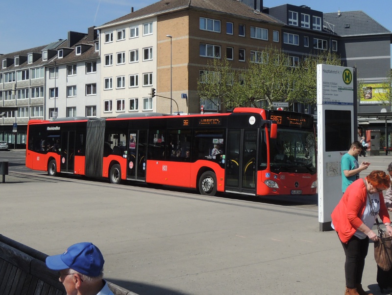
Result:
<svg viewBox="0 0 392 295">
<path fill-rule="evenodd" d="M 147 130 L 130 130 L 128 142 L 127 179 L 146 180 Z"/>
</svg>

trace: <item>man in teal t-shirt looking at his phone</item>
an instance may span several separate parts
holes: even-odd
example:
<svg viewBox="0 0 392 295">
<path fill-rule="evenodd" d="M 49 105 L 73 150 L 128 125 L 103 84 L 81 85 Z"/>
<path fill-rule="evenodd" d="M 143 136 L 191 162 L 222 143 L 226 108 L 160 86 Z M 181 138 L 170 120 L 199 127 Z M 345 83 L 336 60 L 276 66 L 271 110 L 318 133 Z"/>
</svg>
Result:
<svg viewBox="0 0 392 295">
<path fill-rule="evenodd" d="M 359 178 L 359 172 L 368 169 L 369 162 L 358 164 L 358 156 L 361 154 L 362 144 L 359 141 L 351 143 L 347 154 L 344 154 L 341 160 L 342 167 L 342 191 Z"/>
</svg>

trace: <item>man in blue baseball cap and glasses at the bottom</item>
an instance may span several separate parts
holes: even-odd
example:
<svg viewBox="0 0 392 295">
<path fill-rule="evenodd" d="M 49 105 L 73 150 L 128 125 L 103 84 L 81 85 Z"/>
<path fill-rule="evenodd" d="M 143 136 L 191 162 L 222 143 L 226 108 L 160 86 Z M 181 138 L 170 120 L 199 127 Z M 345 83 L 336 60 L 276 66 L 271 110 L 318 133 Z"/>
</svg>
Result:
<svg viewBox="0 0 392 295">
<path fill-rule="evenodd" d="M 104 262 L 90 242 L 73 244 L 63 254 L 46 258 L 47 267 L 59 271 L 67 295 L 113 295 L 102 279 Z"/>
</svg>

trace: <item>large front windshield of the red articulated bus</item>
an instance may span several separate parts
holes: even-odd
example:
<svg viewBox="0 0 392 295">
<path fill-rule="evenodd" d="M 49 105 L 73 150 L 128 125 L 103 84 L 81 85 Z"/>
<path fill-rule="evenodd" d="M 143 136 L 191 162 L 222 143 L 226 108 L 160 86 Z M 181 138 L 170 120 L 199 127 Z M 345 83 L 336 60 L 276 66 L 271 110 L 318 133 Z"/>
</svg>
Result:
<svg viewBox="0 0 392 295">
<path fill-rule="evenodd" d="M 270 139 L 271 172 L 315 174 L 316 149 L 313 131 L 278 129 L 275 139 Z"/>
</svg>

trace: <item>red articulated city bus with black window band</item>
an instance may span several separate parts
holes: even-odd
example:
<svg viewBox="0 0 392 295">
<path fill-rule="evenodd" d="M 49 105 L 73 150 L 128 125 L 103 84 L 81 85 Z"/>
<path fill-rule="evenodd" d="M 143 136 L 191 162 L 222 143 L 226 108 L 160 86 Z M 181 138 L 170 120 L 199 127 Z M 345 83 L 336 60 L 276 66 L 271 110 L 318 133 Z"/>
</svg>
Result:
<svg viewBox="0 0 392 295">
<path fill-rule="evenodd" d="M 247 195 L 315 194 L 313 116 L 260 108 L 232 113 L 123 114 L 30 120 L 26 166 Z"/>
</svg>

